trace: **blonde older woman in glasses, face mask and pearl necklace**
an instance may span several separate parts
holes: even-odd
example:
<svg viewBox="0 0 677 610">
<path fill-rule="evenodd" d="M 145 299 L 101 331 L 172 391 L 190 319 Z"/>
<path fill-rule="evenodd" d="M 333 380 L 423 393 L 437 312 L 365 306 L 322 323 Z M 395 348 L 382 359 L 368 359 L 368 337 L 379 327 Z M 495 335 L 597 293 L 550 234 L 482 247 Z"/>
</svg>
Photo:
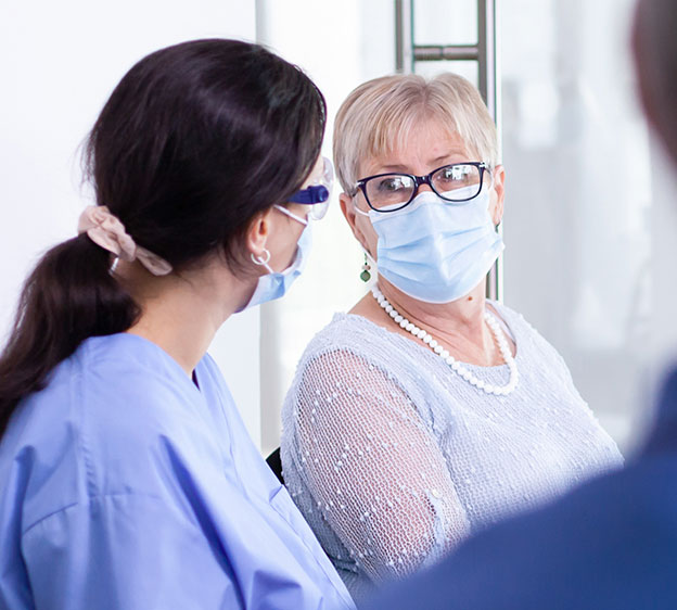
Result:
<svg viewBox="0 0 677 610">
<path fill-rule="evenodd" d="M 308 345 L 281 453 L 359 599 L 622 457 L 557 351 L 485 298 L 506 171 L 476 89 L 451 74 L 368 81 L 338 112 L 334 157 L 376 282 Z"/>
</svg>

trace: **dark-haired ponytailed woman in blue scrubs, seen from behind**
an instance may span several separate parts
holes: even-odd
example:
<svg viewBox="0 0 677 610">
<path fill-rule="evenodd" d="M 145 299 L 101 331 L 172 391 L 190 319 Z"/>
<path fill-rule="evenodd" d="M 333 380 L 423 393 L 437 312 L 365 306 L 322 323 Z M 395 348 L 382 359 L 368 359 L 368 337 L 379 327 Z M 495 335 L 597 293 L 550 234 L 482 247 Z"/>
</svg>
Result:
<svg viewBox="0 0 677 610">
<path fill-rule="evenodd" d="M 98 205 L 0 356 L 0 608 L 352 608 L 205 355 L 301 272 L 323 130 L 312 82 L 240 41 L 163 49 L 114 90 Z"/>
</svg>

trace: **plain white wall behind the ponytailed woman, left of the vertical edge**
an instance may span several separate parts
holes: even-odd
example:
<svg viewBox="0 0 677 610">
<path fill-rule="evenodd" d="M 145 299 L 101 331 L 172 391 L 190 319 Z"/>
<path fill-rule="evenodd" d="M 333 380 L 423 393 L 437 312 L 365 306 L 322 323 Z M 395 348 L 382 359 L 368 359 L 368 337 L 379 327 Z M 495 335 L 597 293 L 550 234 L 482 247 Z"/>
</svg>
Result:
<svg viewBox="0 0 677 610">
<path fill-rule="evenodd" d="M 88 203 L 77 149 L 108 93 L 149 52 L 203 37 L 255 39 L 254 0 L 8 2 L 0 21 L 0 336 L 37 257 L 75 234 Z M 258 312 L 217 335 L 217 358 L 254 440 Z"/>
</svg>

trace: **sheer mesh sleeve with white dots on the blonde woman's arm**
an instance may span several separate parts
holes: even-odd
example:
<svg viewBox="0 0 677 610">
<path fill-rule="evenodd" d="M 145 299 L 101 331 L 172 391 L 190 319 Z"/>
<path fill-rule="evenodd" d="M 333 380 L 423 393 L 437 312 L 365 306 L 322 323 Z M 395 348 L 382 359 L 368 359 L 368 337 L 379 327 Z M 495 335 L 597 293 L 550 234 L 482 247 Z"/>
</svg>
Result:
<svg viewBox="0 0 677 610">
<path fill-rule="evenodd" d="M 375 582 L 436 560 L 469 530 L 445 458 L 388 372 L 315 357 L 292 401 L 292 459 L 317 508 Z"/>
</svg>

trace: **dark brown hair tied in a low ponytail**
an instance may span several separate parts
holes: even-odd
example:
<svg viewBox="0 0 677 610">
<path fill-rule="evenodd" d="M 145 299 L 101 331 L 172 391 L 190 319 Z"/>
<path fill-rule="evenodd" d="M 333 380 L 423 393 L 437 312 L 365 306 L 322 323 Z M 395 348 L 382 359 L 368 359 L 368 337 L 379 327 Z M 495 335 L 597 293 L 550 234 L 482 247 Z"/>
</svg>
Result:
<svg viewBox="0 0 677 610">
<path fill-rule="evenodd" d="M 194 40 L 156 51 L 115 88 L 87 141 L 97 202 L 181 270 L 222 253 L 241 272 L 252 219 L 312 169 L 325 104 L 296 66 L 260 46 Z M 87 234 L 50 250 L 26 280 L 0 355 L 0 433 L 18 402 L 89 336 L 140 314 Z"/>
</svg>

